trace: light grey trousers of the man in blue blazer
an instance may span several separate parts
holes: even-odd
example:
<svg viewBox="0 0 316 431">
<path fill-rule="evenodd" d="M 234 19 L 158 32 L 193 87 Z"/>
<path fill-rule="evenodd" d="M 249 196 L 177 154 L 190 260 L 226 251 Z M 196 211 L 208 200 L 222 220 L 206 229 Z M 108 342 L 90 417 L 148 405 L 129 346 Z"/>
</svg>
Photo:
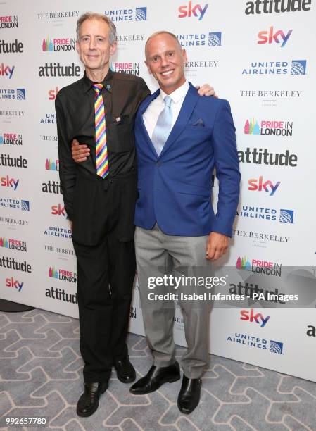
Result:
<svg viewBox="0 0 316 431">
<path fill-rule="evenodd" d="M 175 343 L 173 323 L 175 305 L 172 299 L 148 300 L 148 293 L 168 294 L 181 290 L 184 293 L 196 292 L 195 288 L 162 285 L 158 289 L 148 289 L 150 277 L 161 277 L 170 273 L 186 276 L 210 275 L 210 261 L 206 260 L 208 237 L 179 237 L 165 235 L 156 224 L 152 230 L 136 227 L 135 249 L 139 292 L 144 327 L 148 346 L 153 354 L 153 364 L 158 367 L 175 363 Z M 178 272 L 180 271 L 180 272 Z M 201 288 L 203 289 L 203 287 Z M 200 292 L 203 290 L 200 289 Z M 201 377 L 208 366 L 209 341 L 209 301 L 185 301 L 179 299 L 184 318 L 184 333 L 187 351 L 180 364 L 188 378 Z"/>
</svg>

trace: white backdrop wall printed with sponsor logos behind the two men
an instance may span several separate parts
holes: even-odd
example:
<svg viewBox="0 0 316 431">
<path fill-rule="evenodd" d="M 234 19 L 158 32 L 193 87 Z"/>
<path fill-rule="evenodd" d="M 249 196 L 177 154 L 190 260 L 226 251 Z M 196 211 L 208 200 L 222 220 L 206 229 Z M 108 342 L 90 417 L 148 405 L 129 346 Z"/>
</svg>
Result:
<svg viewBox="0 0 316 431">
<path fill-rule="evenodd" d="M 87 7 L 117 25 L 113 70 L 142 76 L 156 89 L 144 42 L 170 30 L 187 50 L 187 78 L 209 82 L 229 100 L 242 182 L 225 265 L 237 263 L 242 275 L 260 260 L 315 274 L 315 1 L 206 1 L 0 2 L 1 298 L 77 317 L 54 99 L 82 76 L 75 25 Z M 253 154 L 264 151 L 261 159 Z M 284 156 L 270 164 L 267 153 Z M 269 285 L 273 276 L 266 277 Z M 315 308 L 258 312 L 270 316 L 264 326 L 241 319 L 240 308 L 215 308 L 210 351 L 316 381 Z M 137 285 L 130 330 L 144 334 Z M 185 344 L 179 308 L 175 338 Z"/>
</svg>

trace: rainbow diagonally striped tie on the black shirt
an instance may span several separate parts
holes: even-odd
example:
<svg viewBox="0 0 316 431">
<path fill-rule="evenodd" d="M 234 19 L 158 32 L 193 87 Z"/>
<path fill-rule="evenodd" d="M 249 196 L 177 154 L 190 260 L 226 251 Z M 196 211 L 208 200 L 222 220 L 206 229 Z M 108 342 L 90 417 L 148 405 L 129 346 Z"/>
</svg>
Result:
<svg viewBox="0 0 316 431">
<path fill-rule="evenodd" d="M 108 146 L 106 145 L 106 115 L 101 94 L 103 84 L 92 84 L 96 92 L 94 100 L 94 118 L 96 125 L 96 175 L 105 178 L 108 175 Z"/>
</svg>

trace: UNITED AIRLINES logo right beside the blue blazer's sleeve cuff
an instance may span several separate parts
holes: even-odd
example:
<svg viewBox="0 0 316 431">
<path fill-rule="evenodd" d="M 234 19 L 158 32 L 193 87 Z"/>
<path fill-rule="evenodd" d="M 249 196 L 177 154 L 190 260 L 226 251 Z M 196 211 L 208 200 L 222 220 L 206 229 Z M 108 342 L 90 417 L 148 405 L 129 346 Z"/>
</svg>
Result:
<svg viewBox="0 0 316 431">
<path fill-rule="evenodd" d="M 238 217 L 254 218 L 255 220 L 278 221 L 293 223 L 294 211 L 290 209 L 265 208 L 262 206 L 243 205 L 241 211 L 236 211 Z"/>
</svg>

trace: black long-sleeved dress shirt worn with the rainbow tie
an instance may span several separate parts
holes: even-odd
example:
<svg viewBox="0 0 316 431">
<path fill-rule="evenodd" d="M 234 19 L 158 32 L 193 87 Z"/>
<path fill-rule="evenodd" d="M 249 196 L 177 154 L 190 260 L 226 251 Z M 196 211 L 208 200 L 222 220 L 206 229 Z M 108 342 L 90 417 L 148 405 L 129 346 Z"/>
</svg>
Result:
<svg viewBox="0 0 316 431">
<path fill-rule="evenodd" d="M 63 87 L 56 97 L 56 119 L 58 131 L 59 175 L 65 210 L 72 220 L 72 195 L 77 170 L 84 175 L 96 176 L 94 99 L 96 93 L 92 82 L 84 77 Z M 134 118 L 141 101 L 150 91 L 140 77 L 115 73 L 111 70 L 104 78 L 103 96 L 106 113 L 106 135 L 108 146 L 107 179 L 136 171 L 134 146 Z M 90 147 L 87 161 L 75 163 L 71 154 L 72 139 Z M 103 180 L 105 181 L 105 180 Z"/>
</svg>

